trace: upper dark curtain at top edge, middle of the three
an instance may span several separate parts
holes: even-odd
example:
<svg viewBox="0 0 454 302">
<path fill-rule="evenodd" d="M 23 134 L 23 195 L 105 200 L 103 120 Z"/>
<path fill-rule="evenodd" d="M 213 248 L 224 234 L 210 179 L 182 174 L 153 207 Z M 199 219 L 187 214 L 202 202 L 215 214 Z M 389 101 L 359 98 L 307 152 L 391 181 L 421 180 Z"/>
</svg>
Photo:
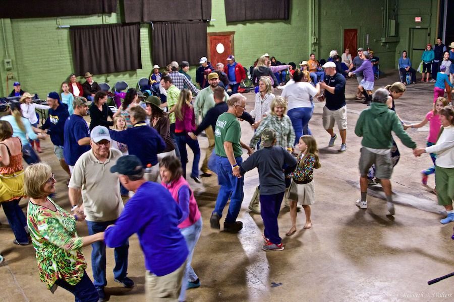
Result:
<svg viewBox="0 0 454 302">
<path fill-rule="evenodd" d="M 210 20 L 211 0 L 123 0 L 125 22 Z"/>
</svg>

